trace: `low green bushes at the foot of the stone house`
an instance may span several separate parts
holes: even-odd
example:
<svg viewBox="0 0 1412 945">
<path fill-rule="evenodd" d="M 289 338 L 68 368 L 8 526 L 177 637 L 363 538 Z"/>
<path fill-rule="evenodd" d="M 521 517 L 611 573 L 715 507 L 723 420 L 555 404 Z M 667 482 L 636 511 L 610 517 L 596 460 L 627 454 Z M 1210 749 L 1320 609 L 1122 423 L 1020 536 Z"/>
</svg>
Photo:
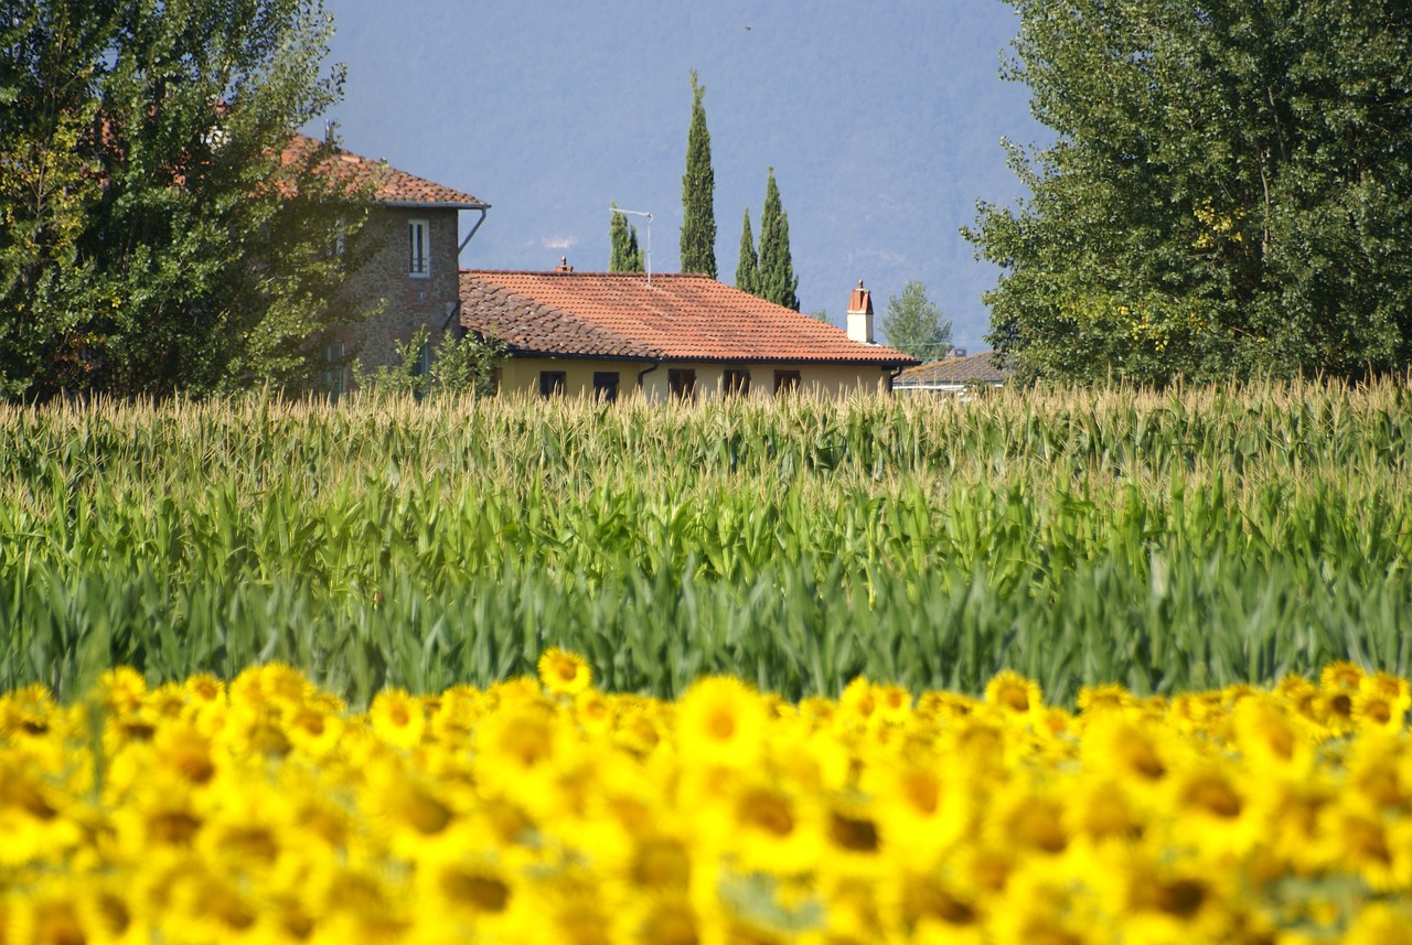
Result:
<svg viewBox="0 0 1412 945">
<path fill-rule="evenodd" d="M 359 391 L 378 399 L 422 399 L 433 394 L 487 396 L 504 346 L 493 339 L 445 331 L 432 347 L 431 330 L 424 324 L 407 341 L 394 341 L 393 351 L 393 364 L 380 364 L 376 371 L 364 371 L 354 362 Z"/>
</svg>

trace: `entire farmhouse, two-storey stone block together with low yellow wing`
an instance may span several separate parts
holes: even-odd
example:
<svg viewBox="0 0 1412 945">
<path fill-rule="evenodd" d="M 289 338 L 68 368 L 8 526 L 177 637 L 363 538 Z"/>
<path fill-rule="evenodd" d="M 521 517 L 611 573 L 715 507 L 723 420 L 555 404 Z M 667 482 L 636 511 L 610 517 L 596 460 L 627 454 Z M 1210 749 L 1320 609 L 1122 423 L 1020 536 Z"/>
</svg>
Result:
<svg viewBox="0 0 1412 945">
<path fill-rule="evenodd" d="M 294 159 L 319 147 L 295 135 Z M 463 271 L 459 257 L 486 219 L 489 203 L 425 181 L 383 161 L 335 148 L 328 172 L 370 185 L 374 210 L 363 227 L 367 255 L 335 305 L 378 306 L 350 319 L 325 351 L 325 381 L 347 389 L 346 367 L 391 364 L 395 344 L 426 326 L 422 370 L 443 331 L 497 339 L 507 357 L 501 391 L 648 396 L 774 396 L 789 391 L 837 395 L 891 389 L 916 360 L 873 340 L 873 302 L 858 282 L 843 331 L 705 275 Z M 460 212 L 479 213 L 460 236 Z"/>
</svg>

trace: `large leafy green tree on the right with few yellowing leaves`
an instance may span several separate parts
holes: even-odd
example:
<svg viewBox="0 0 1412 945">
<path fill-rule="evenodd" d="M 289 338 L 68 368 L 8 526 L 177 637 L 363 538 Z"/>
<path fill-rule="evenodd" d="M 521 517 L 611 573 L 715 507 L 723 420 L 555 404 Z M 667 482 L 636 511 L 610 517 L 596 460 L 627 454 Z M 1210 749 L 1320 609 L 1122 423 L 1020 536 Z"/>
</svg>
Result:
<svg viewBox="0 0 1412 945">
<path fill-rule="evenodd" d="M 1022 377 L 1361 377 L 1412 361 L 1412 7 L 1007 0 L 1056 133 L 980 203 Z"/>
</svg>

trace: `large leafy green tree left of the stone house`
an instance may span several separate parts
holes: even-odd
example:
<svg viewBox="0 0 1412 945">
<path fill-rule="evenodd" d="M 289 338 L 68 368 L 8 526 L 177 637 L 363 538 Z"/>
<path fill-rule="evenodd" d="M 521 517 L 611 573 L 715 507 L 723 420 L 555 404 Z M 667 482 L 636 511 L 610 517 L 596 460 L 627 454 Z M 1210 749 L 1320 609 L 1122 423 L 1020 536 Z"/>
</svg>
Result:
<svg viewBox="0 0 1412 945">
<path fill-rule="evenodd" d="M 14 10 L 11 4 L 11 10 Z M 312 386 L 367 193 L 288 148 L 318 0 L 35 0 L 0 24 L 0 394 Z"/>
</svg>

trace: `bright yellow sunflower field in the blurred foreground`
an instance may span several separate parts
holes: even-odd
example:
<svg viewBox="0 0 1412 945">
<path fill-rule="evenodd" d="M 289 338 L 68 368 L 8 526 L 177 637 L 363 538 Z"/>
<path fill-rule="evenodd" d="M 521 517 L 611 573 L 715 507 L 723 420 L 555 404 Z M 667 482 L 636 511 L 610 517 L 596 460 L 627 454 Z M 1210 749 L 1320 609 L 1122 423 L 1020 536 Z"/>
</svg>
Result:
<svg viewBox="0 0 1412 945">
<path fill-rule="evenodd" d="M 1069 711 L 1014 671 L 788 702 L 538 670 L 361 712 L 282 663 L 0 697 L 0 939 L 1412 941 L 1387 673 Z"/>
</svg>

